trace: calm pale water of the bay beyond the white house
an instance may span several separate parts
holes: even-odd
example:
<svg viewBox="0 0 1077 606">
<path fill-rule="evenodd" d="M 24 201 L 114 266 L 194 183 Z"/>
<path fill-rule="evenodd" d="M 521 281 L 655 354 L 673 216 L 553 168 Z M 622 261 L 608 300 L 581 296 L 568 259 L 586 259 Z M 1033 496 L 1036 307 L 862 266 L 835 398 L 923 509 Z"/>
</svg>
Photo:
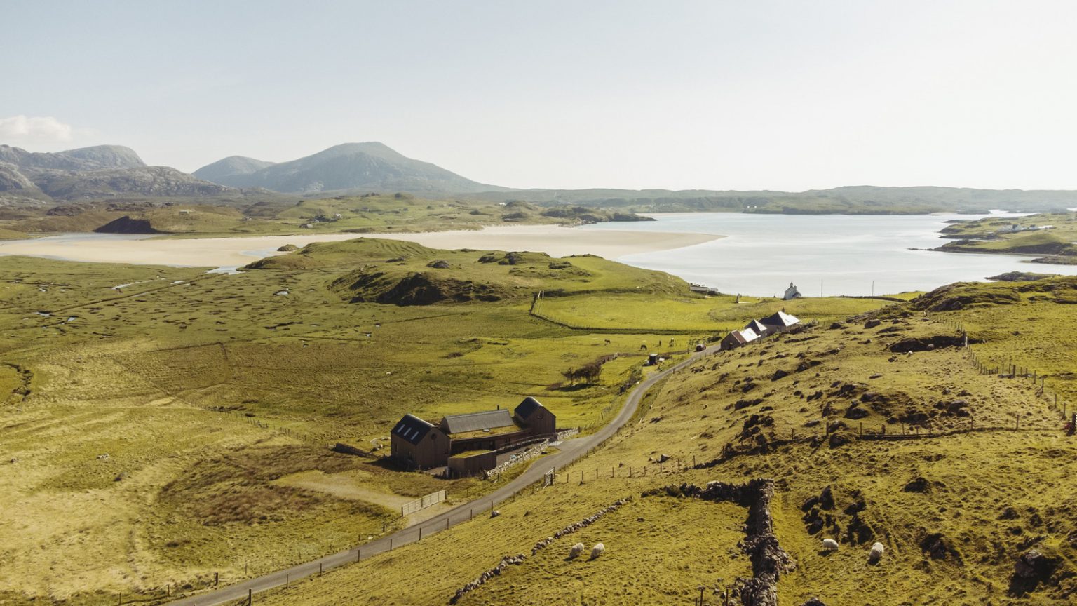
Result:
<svg viewBox="0 0 1077 606">
<path fill-rule="evenodd" d="M 655 215 L 631 230 L 723 234 L 727 237 L 617 260 L 661 270 L 723 292 L 780 295 L 791 281 L 809 297 L 931 290 L 1003 272 L 1077 274 L 1074 265 L 1027 263 L 1026 257 L 923 250 L 947 239 L 938 231 L 968 215 L 848 216 L 693 212 Z M 583 230 L 624 230 L 597 223 Z M 913 250 L 921 249 L 921 250 Z"/>
</svg>

